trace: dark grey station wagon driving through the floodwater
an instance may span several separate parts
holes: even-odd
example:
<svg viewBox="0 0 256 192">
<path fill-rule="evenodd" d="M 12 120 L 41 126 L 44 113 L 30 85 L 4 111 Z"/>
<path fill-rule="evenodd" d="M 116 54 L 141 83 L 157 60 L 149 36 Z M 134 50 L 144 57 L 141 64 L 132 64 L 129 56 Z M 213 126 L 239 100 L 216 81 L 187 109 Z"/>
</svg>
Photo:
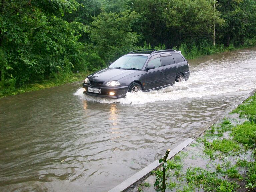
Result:
<svg viewBox="0 0 256 192">
<path fill-rule="evenodd" d="M 83 93 L 96 97 L 121 98 L 127 92 L 150 91 L 189 78 L 189 64 L 176 50 L 132 51 L 106 69 L 89 75 Z"/>
</svg>

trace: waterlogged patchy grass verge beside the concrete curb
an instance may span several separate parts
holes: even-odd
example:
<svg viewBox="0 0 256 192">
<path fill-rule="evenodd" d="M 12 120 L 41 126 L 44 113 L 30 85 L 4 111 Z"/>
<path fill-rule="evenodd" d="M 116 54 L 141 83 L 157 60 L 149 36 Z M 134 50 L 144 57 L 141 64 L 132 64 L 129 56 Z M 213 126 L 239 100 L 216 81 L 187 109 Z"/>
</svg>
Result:
<svg viewBox="0 0 256 192">
<path fill-rule="evenodd" d="M 167 161 L 165 191 L 256 191 L 256 94 Z M 162 168 L 128 191 L 160 191 Z"/>
</svg>

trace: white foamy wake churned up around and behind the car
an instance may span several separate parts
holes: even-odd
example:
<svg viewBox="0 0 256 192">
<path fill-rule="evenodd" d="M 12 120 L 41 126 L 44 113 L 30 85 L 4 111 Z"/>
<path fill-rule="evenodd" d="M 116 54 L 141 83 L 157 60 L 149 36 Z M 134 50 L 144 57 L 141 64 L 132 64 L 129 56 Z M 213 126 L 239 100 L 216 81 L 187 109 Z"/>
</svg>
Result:
<svg viewBox="0 0 256 192">
<path fill-rule="evenodd" d="M 144 104 L 156 101 L 179 100 L 183 98 L 200 98 L 256 88 L 256 61 L 207 61 L 191 67 L 190 78 L 186 82 L 175 83 L 160 90 L 150 92 L 127 93 L 125 98 L 106 99 L 83 94 L 79 88 L 74 95 L 84 100 L 100 103 Z"/>
</svg>

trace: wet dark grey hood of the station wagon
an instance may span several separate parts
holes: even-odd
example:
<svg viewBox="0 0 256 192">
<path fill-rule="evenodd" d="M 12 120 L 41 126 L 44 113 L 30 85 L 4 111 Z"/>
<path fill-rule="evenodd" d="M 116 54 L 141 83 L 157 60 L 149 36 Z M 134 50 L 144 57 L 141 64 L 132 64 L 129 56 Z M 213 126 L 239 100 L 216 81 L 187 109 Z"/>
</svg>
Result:
<svg viewBox="0 0 256 192">
<path fill-rule="evenodd" d="M 106 68 L 89 76 L 90 81 L 118 81 L 119 79 L 136 73 L 137 70 Z"/>
</svg>

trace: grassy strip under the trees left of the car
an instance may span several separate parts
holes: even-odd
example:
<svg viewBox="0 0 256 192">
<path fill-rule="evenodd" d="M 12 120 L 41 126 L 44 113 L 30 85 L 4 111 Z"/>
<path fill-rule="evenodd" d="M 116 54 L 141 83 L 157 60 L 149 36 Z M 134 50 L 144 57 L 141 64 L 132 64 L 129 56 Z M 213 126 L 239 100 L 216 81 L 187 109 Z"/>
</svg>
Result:
<svg viewBox="0 0 256 192">
<path fill-rule="evenodd" d="M 56 74 L 54 78 L 51 78 L 48 80 L 35 82 L 35 83 L 28 83 L 16 89 L 1 90 L 0 98 L 10 96 L 10 95 L 17 95 L 17 94 L 21 94 L 29 91 L 37 91 L 40 89 L 46 89 L 50 87 L 64 85 L 66 83 L 72 83 L 76 81 L 82 82 L 82 80 L 84 80 L 90 73 L 91 73 L 90 71 L 83 71 L 79 73 Z"/>
</svg>

